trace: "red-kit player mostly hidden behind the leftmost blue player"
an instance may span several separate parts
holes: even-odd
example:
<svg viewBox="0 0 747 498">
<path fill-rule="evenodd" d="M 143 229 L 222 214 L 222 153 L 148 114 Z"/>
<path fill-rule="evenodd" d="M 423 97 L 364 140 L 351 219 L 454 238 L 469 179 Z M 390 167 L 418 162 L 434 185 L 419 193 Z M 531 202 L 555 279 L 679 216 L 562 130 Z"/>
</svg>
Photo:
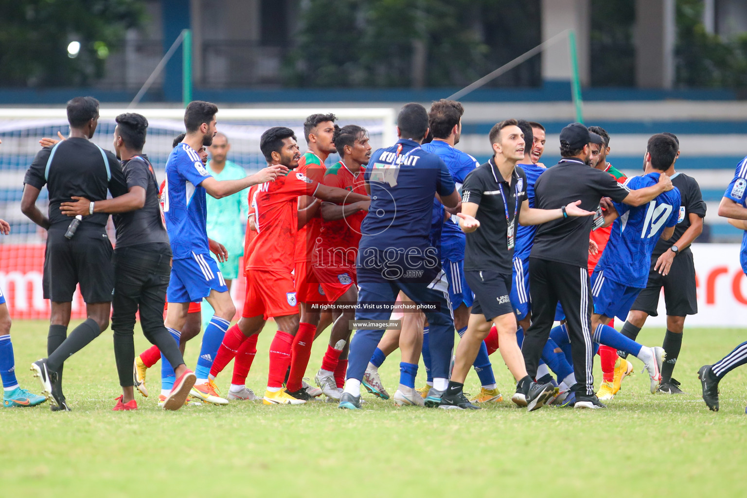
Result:
<svg viewBox="0 0 747 498">
<path fill-rule="evenodd" d="M 171 148 L 173 149 L 179 143 L 184 140 L 185 134 L 180 134 L 178 137 L 176 137 L 173 140 L 173 143 L 171 144 Z M 200 147 L 199 151 L 197 151 L 197 154 L 199 154 L 199 158 L 202 161 L 202 164 L 208 163 L 208 151 L 205 149 L 205 146 Z M 166 180 L 161 181 L 161 187 L 158 190 L 158 199 L 161 201 L 161 208 L 164 207 L 164 200 L 163 200 L 163 193 L 164 193 L 164 186 L 166 185 Z M 222 244 L 217 243 L 215 240 L 208 239 L 208 243 L 210 246 L 211 252 L 218 258 L 218 261 L 225 261 L 226 256 L 228 253 L 226 252 L 226 248 L 223 247 Z M 168 299 L 166 301 L 166 304 L 164 305 L 164 312 L 168 309 Z M 187 322 L 185 323 L 184 329 L 182 329 L 182 335 L 179 337 L 179 349 L 182 351 L 182 355 L 185 352 L 185 344 L 187 343 L 187 340 L 190 340 L 192 337 L 196 337 L 197 334 L 199 334 L 200 326 L 201 326 L 201 314 L 200 314 L 200 303 L 199 302 L 190 302 L 189 305 L 189 311 L 187 311 Z M 135 357 L 135 362 L 132 367 L 132 377 L 134 381 L 135 387 L 137 387 L 138 392 L 142 394 L 145 397 L 148 397 L 148 388 L 145 385 L 145 377 L 148 369 L 158 363 L 158 360 L 161 359 L 161 350 L 158 349 L 158 346 L 150 346 L 145 351 L 141 352 L 140 355 L 137 355 Z M 164 399 L 166 395 L 164 393 L 161 393 L 161 396 L 164 396 Z M 160 396 L 159 396 L 160 398 Z"/>
</svg>

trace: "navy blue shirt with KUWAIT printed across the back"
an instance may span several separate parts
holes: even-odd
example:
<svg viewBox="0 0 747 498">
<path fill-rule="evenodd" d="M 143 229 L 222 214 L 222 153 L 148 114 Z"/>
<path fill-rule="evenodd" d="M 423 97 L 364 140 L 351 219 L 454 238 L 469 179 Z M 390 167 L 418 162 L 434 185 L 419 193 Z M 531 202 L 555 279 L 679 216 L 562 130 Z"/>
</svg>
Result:
<svg viewBox="0 0 747 498">
<path fill-rule="evenodd" d="M 401 139 L 373 152 L 365 180 L 371 187 L 371 207 L 361 225 L 359 252 L 430 247 L 433 197 L 454 191 L 444 161 L 419 143 Z"/>
</svg>

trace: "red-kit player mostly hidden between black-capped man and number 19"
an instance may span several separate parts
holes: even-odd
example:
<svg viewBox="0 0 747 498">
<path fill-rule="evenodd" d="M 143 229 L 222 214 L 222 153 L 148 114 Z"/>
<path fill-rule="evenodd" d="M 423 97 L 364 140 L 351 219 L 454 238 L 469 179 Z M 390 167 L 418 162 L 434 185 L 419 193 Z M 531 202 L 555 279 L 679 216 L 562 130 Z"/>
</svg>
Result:
<svg viewBox="0 0 747 498">
<path fill-rule="evenodd" d="M 607 162 L 607 155 L 610 154 L 610 134 L 601 126 L 589 126 L 589 131 L 598 134 L 603 142 L 601 145 L 592 143 L 592 166 L 610 173 L 618 183 L 624 184 L 627 181 L 627 176 Z M 607 247 L 607 242 L 610 240 L 610 233 L 612 233 L 612 225 L 607 227 L 601 226 L 596 230 L 592 230 L 591 234 L 589 234 L 589 244 L 594 243 L 596 246 L 596 252 L 589 251 L 589 276 L 594 273 L 594 269 L 602 257 L 602 252 Z M 614 327 L 614 320 L 610 320 L 609 325 L 610 327 Z M 613 396 L 620 389 L 622 378 L 633 372 L 633 364 L 619 358 L 617 349 L 610 346 L 599 346 L 599 358 L 603 379 L 602 385 L 597 392 L 597 397 L 600 400 L 613 399 Z"/>
</svg>

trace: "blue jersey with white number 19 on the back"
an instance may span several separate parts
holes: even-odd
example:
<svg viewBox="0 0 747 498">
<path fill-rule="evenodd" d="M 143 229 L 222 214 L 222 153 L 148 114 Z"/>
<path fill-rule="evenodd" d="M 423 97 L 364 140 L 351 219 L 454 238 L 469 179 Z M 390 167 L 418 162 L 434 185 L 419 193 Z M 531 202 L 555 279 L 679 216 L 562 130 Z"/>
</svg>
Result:
<svg viewBox="0 0 747 498">
<path fill-rule="evenodd" d="M 659 181 L 657 172 L 628 178 L 625 185 L 630 190 L 638 190 Z M 648 270 L 651 267 L 651 253 L 664 228 L 677 225 L 680 212 L 680 191 L 674 187 L 669 192 L 660 193 L 648 204 L 633 207 L 616 202 L 620 215 L 613 223 L 610 241 L 604 249 L 597 270 L 604 270 L 604 276 L 628 287 L 645 288 Z"/>
</svg>

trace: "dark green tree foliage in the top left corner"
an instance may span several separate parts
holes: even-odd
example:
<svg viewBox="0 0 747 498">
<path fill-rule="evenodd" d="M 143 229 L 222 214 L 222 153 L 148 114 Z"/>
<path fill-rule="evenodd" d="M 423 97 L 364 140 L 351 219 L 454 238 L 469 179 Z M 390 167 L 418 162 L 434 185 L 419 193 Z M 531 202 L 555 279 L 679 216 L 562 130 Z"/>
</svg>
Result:
<svg viewBox="0 0 747 498">
<path fill-rule="evenodd" d="M 141 0 L 0 0 L 0 85 L 88 84 L 144 17 Z M 81 43 L 74 58 L 73 40 Z"/>
</svg>

